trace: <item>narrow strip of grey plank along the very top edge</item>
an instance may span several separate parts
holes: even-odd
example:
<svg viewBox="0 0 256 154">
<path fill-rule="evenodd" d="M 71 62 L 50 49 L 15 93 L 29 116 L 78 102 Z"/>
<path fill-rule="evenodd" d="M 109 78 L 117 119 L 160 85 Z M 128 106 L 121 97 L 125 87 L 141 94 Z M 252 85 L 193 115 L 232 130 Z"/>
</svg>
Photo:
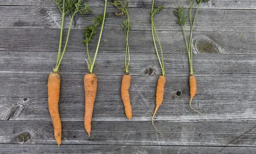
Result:
<svg viewBox="0 0 256 154">
<path fill-rule="evenodd" d="M 90 6 L 104 6 L 104 1 L 87 0 Z M 148 7 L 150 8 L 152 0 L 130 0 L 129 7 Z M 178 4 L 189 8 L 187 0 L 156 0 L 156 6 L 163 5 L 165 8 L 176 8 Z M 52 0 L 2 0 L 0 5 L 21 5 L 21 6 L 55 6 Z M 111 5 L 108 3 L 108 7 Z M 254 0 L 214 0 L 201 4 L 201 8 L 205 9 L 256 9 L 256 2 Z"/>
</svg>

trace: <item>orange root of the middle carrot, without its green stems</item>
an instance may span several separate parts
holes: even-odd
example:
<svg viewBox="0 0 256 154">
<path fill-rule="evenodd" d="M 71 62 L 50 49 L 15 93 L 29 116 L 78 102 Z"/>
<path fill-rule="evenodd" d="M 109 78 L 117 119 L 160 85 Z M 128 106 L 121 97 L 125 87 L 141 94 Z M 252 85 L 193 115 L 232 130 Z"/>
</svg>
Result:
<svg viewBox="0 0 256 154">
<path fill-rule="evenodd" d="M 129 120 L 132 118 L 132 106 L 130 103 L 130 95 L 128 91 L 130 89 L 130 82 L 131 82 L 131 76 L 124 75 L 122 79 L 122 85 L 121 85 L 121 97 L 124 103 L 126 117 Z"/>
</svg>

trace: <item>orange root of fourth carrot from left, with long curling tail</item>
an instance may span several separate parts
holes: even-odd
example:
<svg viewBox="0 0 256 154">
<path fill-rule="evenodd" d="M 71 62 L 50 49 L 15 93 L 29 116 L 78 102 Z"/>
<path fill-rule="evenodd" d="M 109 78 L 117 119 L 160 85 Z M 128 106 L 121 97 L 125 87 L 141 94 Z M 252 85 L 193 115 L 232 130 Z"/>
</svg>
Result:
<svg viewBox="0 0 256 154">
<path fill-rule="evenodd" d="M 157 82 L 157 88 L 156 88 L 156 109 L 155 109 L 154 114 L 152 116 L 152 125 L 153 126 L 154 126 L 153 119 L 154 119 L 154 116 L 156 115 L 156 111 L 162 105 L 162 102 L 163 102 L 163 95 L 164 95 L 164 92 L 165 92 L 165 83 L 166 83 L 166 77 L 163 76 L 163 75 L 159 76 L 159 79 L 158 79 L 158 82 Z M 154 126 L 154 128 L 156 129 L 155 126 Z M 158 131 L 158 133 L 160 133 L 160 132 Z"/>
</svg>

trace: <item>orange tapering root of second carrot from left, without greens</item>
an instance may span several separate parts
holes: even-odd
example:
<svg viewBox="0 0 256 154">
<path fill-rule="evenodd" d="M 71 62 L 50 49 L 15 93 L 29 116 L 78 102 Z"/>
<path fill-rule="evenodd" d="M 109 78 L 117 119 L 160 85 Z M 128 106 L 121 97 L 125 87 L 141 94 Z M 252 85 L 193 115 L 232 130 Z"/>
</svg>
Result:
<svg viewBox="0 0 256 154">
<path fill-rule="evenodd" d="M 98 79 L 95 74 L 87 74 L 85 81 L 85 130 L 90 136 L 91 118 L 93 114 L 93 106 L 96 98 Z"/>
</svg>

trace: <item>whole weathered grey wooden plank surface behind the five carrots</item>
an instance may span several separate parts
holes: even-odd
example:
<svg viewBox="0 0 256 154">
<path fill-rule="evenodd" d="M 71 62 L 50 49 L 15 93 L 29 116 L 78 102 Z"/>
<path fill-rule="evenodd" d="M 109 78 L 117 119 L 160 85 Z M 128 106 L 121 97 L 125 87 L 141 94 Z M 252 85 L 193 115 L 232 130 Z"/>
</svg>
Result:
<svg viewBox="0 0 256 154">
<path fill-rule="evenodd" d="M 129 5 L 131 121 L 125 117 L 120 97 L 125 37 L 117 9 L 108 3 L 94 69 L 98 92 L 91 137 L 83 126 L 87 56 L 82 29 L 103 12 L 104 1 L 87 2 L 94 13 L 74 19 L 60 67 L 63 144 L 58 148 L 48 113 L 47 78 L 56 62 L 59 9 L 52 0 L 0 0 L 0 154 L 255 153 L 256 0 L 211 0 L 201 6 L 194 29 L 198 92 L 192 106 L 204 117 L 189 107 L 187 52 L 173 13 L 178 4 L 189 8 L 187 0 L 155 1 L 156 6 L 165 6 L 156 15 L 155 25 L 167 84 L 154 119 L 164 135 L 151 124 L 161 75 L 150 32 L 152 1 L 130 0 Z M 91 54 L 96 45 L 97 39 L 89 45 Z"/>
</svg>

